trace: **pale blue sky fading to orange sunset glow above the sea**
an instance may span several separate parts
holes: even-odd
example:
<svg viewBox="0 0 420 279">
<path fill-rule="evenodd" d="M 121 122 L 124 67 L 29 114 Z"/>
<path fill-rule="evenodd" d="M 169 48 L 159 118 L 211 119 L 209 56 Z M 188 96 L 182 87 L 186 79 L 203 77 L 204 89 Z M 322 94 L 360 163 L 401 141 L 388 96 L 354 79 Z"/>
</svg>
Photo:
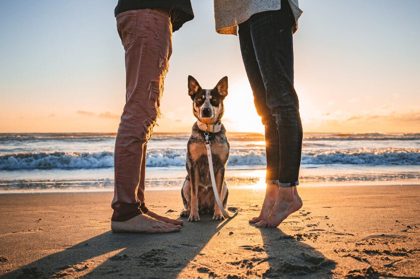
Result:
<svg viewBox="0 0 420 279">
<path fill-rule="evenodd" d="M 116 132 L 125 102 L 116 0 L 1 1 L 0 133 Z M 295 88 L 304 132 L 420 132 L 420 1 L 301 0 Z M 213 1 L 173 34 L 155 132 L 189 132 L 187 76 L 225 75 L 228 131 L 263 132 L 238 37 L 215 32 Z"/>
</svg>

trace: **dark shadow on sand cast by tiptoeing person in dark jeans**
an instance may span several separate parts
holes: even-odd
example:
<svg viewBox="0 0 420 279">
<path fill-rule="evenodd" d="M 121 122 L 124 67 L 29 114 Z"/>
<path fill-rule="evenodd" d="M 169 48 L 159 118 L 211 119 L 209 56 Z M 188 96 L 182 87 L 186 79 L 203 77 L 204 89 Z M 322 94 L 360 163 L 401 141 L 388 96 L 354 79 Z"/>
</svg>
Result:
<svg viewBox="0 0 420 279">
<path fill-rule="evenodd" d="M 267 254 L 269 269 L 263 277 L 332 278 L 335 262 L 327 259 L 315 248 L 307 245 L 301 235 L 287 235 L 278 228 L 259 228 Z"/>
</svg>

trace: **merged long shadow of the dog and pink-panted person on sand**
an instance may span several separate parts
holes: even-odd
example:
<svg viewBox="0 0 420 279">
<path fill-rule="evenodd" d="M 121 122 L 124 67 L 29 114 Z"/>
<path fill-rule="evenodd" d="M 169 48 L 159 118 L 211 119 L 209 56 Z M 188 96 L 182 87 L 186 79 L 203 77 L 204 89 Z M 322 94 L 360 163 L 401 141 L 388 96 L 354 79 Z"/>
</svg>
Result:
<svg viewBox="0 0 420 279">
<path fill-rule="evenodd" d="M 152 235 L 107 231 L 4 276 L 174 278 L 231 220 L 214 221 L 211 218 L 212 215 L 204 215 L 200 222 L 188 222 L 183 218 L 185 223 L 178 233 Z M 197 226 L 199 230 L 194 228 Z"/>
</svg>

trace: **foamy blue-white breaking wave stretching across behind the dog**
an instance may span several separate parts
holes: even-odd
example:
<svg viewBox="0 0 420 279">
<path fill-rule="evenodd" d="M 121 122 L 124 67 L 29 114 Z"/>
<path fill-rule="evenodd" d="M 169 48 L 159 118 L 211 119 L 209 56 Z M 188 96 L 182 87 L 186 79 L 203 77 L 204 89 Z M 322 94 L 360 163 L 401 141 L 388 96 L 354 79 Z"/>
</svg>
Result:
<svg viewBox="0 0 420 279">
<path fill-rule="evenodd" d="M 147 154 L 150 167 L 185 165 L 185 149 L 152 149 Z M 231 149 L 228 165 L 264 165 L 264 149 Z M 357 149 L 304 152 L 302 164 L 420 165 L 420 149 Z M 114 166 L 114 153 L 39 152 L 0 156 L 0 170 L 107 168 Z"/>
</svg>

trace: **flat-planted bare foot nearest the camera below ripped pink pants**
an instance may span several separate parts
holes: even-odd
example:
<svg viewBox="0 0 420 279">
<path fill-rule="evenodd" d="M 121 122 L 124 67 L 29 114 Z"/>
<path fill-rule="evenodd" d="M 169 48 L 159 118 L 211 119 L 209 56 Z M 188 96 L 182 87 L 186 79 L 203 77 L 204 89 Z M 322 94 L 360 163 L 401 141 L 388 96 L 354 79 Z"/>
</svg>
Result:
<svg viewBox="0 0 420 279">
<path fill-rule="evenodd" d="M 179 232 L 180 225 L 172 225 L 153 219 L 145 214 L 137 215 L 123 222 L 111 221 L 113 232 L 137 232 L 137 233 L 169 233 Z"/>
</svg>

